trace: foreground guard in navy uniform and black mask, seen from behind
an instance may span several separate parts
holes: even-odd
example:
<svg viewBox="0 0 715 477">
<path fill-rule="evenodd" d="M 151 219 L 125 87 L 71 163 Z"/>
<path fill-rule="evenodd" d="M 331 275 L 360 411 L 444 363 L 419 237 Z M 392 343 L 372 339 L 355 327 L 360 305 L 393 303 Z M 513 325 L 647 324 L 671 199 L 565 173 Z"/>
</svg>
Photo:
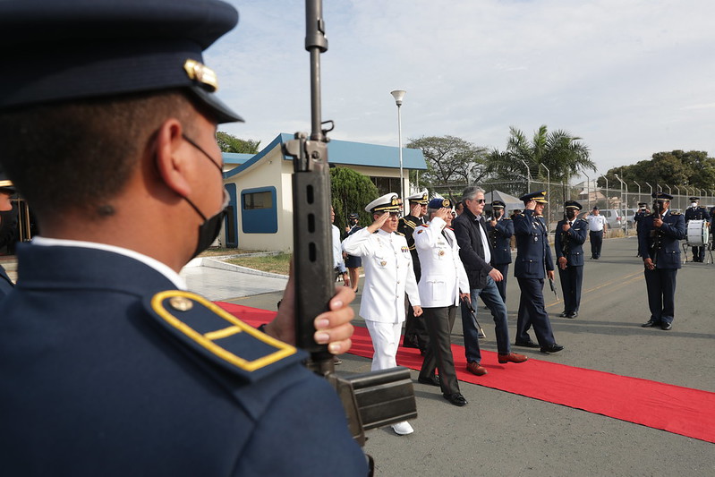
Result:
<svg viewBox="0 0 715 477">
<path fill-rule="evenodd" d="M 4 475 L 365 475 L 335 391 L 302 366 L 294 283 L 265 334 L 185 290 L 226 194 L 202 51 L 217 0 L 5 0 L 0 161 L 42 230 L 0 301 Z M 344 353 L 340 288 L 315 338 Z M 279 341 L 283 339 L 283 341 Z"/>
</svg>

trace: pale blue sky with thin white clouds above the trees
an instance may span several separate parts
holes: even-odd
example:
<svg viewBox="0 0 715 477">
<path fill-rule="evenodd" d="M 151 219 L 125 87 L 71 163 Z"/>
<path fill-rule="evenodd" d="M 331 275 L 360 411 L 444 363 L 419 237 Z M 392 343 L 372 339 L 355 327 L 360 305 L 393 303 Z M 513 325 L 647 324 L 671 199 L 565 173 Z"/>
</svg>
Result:
<svg viewBox="0 0 715 477">
<path fill-rule="evenodd" d="M 219 127 L 267 146 L 310 132 L 302 0 L 228 0 L 236 29 L 210 47 Z M 324 0 L 328 137 L 398 145 L 453 135 L 505 149 L 509 127 L 582 138 L 598 174 L 673 149 L 715 155 L 712 0 Z M 592 175 L 592 179 L 595 174 Z"/>
</svg>

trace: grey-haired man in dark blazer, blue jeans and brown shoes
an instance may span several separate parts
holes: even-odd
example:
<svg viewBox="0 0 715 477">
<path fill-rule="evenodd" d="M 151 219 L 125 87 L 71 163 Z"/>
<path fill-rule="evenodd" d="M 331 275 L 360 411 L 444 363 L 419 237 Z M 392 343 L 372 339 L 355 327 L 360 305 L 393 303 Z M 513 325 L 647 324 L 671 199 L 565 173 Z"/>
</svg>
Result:
<svg viewBox="0 0 715 477">
<path fill-rule="evenodd" d="M 469 278 L 472 310 L 477 310 L 477 298 L 481 296 L 494 318 L 497 335 L 498 362 L 525 362 L 526 356 L 511 352 L 509 328 L 506 323 L 506 304 L 497 289 L 497 282 L 504 279 L 501 272 L 489 262 L 494 255 L 487 237 L 484 210 L 484 190 L 470 186 L 462 194 L 464 212 L 452 222 L 459 244 L 459 257 Z M 467 371 L 477 376 L 487 374 L 481 366 L 479 332 L 472 319 L 472 312 L 466 303 L 461 303 L 462 328 L 464 330 L 464 353 L 467 359 Z"/>
</svg>

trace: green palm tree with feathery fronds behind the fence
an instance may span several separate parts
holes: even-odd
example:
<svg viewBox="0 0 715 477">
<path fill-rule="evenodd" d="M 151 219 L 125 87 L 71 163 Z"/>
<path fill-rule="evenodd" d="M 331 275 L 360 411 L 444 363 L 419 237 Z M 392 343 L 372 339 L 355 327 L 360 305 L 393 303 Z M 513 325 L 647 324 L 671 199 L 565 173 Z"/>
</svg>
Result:
<svg viewBox="0 0 715 477">
<path fill-rule="evenodd" d="M 551 183 L 569 183 L 579 172 L 596 170 L 582 138 L 564 130 L 549 132 L 546 125 L 534 132 L 532 141 L 514 126 L 509 127 L 506 150 L 493 149 L 489 153 L 487 172 L 495 180 L 525 183 L 524 163 L 533 178 L 546 182 L 549 177 Z"/>
</svg>

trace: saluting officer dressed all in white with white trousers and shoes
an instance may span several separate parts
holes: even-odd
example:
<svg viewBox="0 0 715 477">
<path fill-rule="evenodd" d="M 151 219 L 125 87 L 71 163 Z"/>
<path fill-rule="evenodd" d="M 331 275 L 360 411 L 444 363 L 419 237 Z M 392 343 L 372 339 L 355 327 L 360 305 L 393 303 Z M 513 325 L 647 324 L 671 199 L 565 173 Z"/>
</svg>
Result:
<svg viewBox="0 0 715 477">
<path fill-rule="evenodd" d="M 375 353 L 372 371 L 397 366 L 397 346 L 404 321 L 404 294 L 413 305 L 414 316 L 422 314 L 420 294 L 414 278 L 413 258 L 404 235 L 396 234 L 402 203 L 395 192 L 371 201 L 365 210 L 374 222 L 343 241 L 343 250 L 362 257 L 365 285 L 360 316 L 370 332 Z M 397 434 L 411 434 L 408 422 L 392 426 Z"/>
</svg>

